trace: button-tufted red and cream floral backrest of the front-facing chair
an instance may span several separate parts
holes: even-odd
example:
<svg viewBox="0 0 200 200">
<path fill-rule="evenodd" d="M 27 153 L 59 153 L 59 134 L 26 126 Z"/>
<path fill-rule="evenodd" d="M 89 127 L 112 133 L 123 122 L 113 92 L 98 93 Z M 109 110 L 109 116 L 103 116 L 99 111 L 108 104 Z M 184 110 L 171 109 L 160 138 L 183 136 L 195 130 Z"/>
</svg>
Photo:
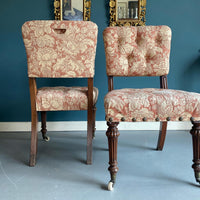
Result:
<svg viewBox="0 0 200 200">
<path fill-rule="evenodd" d="M 169 27 L 108 27 L 103 37 L 108 76 L 168 74 L 171 43 Z"/>
</svg>

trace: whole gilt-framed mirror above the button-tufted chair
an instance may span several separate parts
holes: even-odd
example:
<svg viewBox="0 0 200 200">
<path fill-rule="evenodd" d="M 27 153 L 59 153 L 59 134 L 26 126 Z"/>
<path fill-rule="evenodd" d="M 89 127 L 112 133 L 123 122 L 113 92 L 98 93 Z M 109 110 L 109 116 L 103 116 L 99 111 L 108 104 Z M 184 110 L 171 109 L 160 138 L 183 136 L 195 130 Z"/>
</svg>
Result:
<svg viewBox="0 0 200 200">
<path fill-rule="evenodd" d="M 110 0 L 110 26 L 145 25 L 146 0 Z"/>
</svg>

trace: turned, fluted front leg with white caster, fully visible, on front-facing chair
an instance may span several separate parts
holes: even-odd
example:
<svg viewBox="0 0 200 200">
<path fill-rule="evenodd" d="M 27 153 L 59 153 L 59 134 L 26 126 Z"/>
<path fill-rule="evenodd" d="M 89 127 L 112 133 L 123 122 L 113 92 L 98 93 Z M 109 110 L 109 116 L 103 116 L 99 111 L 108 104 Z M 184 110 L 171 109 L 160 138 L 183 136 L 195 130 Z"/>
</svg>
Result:
<svg viewBox="0 0 200 200">
<path fill-rule="evenodd" d="M 112 190 L 116 181 L 116 175 L 118 172 L 117 167 L 117 143 L 118 143 L 118 122 L 107 122 L 108 130 L 106 135 L 108 137 L 108 148 L 109 148 L 109 168 L 111 180 L 108 183 L 108 190 Z"/>
</svg>

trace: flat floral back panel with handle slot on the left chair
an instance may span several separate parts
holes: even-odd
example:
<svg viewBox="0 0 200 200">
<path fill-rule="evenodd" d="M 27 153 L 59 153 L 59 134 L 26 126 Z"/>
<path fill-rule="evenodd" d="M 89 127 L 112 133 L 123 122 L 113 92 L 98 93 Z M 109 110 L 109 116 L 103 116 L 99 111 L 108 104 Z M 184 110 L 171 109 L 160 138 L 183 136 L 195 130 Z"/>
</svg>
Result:
<svg viewBox="0 0 200 200">
<path fill-rule="evenodd" d="M 29 77 L 93 77 L 97 26 L 89 21 L 30 21 L 22 26 Z"/>
</svg>

